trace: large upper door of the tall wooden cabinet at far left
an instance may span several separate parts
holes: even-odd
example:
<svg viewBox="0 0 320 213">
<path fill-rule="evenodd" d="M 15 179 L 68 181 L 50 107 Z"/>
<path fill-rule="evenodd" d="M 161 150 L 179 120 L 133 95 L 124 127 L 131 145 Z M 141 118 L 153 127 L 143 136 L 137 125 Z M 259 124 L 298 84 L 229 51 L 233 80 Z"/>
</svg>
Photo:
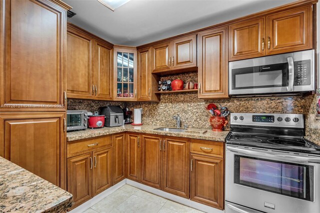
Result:
<svg viewBox="0 0 320 213">
<path fill-rule="evenodd" d="M 45 0 L 4 0 L 0 18 L 1 109 L 65 110 L 65 10 Z"/>
</svg>

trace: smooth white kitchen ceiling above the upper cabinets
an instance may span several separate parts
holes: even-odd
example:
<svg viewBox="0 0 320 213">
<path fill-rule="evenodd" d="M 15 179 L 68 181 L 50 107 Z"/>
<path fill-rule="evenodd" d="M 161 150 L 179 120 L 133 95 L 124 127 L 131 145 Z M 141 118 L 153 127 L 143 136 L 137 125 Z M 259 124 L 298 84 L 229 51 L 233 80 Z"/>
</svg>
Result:
<svg viewBox="0 0 320 213">
<path fill-rule="evenodd" d="M 138 46 L 294 0 L 131 0 L 111 11 L 97 0 L 63 0 L 68 21 L 105 40 Z"/>
</svg>

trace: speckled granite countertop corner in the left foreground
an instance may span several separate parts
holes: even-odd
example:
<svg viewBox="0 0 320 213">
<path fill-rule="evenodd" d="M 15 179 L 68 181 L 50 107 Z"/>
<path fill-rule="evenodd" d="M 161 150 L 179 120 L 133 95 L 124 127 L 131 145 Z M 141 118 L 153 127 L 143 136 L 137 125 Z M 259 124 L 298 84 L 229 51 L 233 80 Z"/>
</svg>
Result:
<svg viewBox="0 0 320 213">
<path fill-rule="evenodd" d="M 72 194 L 0 157 L 0 212 L 65 212 Z"/>
</svg>

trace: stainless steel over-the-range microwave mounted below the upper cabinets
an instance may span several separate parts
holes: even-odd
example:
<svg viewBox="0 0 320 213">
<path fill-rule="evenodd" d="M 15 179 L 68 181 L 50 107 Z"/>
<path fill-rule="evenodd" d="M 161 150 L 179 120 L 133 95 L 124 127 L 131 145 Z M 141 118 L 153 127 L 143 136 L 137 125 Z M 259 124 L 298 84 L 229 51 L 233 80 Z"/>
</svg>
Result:
<svg viewBox="0 0 320 213">
<path fill-rule="evenodd" d="M 315 90 L 314 50 L 229 62 L 229 95 L 304 93 Z"/>
</svg>

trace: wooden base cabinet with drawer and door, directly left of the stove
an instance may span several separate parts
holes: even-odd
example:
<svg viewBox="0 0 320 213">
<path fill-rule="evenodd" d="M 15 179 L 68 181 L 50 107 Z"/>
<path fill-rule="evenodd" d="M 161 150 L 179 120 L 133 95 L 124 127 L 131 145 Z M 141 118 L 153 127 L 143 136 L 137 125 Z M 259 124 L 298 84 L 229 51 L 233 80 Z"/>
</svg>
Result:
<svg viewBox="0 0 320 213">
<path fill-rule="evenodd" d="M 191 139 L 190 199 L 221 210 L 224 206 L 223 149 L 223 142 Z"/>
</svg>

